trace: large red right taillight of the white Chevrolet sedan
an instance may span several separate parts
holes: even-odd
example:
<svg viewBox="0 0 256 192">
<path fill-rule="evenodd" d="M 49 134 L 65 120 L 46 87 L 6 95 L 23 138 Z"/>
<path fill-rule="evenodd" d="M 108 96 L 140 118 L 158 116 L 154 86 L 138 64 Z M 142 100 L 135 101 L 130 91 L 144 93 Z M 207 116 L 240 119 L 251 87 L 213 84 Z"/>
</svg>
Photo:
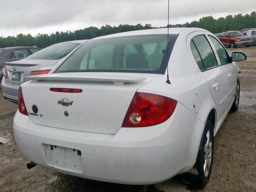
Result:
<svg viewBox="0 0 256 192">
<path fill-rule="evenodd" d="M 146 127 L 166 121 L 174 112 L 177 101 L 168 97 L 136 92 L 122 127 Z"/>
</svg>

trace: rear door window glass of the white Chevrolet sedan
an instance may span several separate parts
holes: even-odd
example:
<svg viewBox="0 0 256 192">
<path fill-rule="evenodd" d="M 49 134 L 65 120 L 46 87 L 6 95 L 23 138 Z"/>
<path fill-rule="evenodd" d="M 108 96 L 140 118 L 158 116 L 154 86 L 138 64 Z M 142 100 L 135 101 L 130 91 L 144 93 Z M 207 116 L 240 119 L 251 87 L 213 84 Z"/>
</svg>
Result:
<svg viewBox="0 0 256 192">
<path fill-rule="evenodd" d="M 218 65 L 212 47 L 204 35 L 198 35 L 192 38 L 192 42 L 196 46 L 198 53 L 204 65 L 204 69 L 212 68 Z"/>
</svg>

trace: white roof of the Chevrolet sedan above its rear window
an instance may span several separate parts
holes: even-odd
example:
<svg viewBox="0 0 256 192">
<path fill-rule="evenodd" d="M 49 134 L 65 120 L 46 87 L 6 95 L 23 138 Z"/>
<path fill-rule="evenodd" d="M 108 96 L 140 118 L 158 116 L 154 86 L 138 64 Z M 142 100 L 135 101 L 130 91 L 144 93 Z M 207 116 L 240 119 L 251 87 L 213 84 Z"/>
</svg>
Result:
<svg viewBox="0 0 256 192">
<path fill-rule="evenodd" d="M 201 28 L 169 28 L 169 34 L 180 34 L 180 32 L 183 32 L 183 31 L 193 32 L 193 31 L 207 31 L 207 30 L 204 30 Z M 146 29 L 146 30 L 128 31 L 128 32 L 100 36 L 100 37 L 93 38 L 92 40 L 112 38 L 112 37 L 122 37 L 122 36 L 167 34 L 167 32 L 168 32 L 168 28 Z"/>
</svg>

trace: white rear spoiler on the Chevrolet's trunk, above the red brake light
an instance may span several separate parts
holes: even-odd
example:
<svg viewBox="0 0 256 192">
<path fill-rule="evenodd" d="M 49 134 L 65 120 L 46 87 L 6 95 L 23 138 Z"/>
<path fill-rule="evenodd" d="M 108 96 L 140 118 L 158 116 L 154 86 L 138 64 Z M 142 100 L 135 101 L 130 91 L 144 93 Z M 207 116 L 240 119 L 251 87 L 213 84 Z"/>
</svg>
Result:
<svg viewBox="0 0 256 192">
<path fill-rule="evenodd" d="M 121 76 L 121 75 L 102 75 L 102 74 L 45 74 L 25 77 L 32 81 L 96 81 L 96 82 L 112 82 L 116 85 L 125 83 L 136 83 L 146 80 L 146 77 Z"/>
</svg>

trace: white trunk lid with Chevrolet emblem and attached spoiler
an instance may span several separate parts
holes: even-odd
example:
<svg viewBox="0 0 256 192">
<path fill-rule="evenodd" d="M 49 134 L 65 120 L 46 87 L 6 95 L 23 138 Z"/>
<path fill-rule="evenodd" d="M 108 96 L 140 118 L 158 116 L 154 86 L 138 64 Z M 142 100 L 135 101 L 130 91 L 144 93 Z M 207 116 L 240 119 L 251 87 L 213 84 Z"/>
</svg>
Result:
<svg viewBox="0 0 256 192">
<path fill-rule="evenodd" d="M 23 84 L 22 92 L 29 117 L 36 124 L 116 134 L 136 90 L 160 76 L 100 72 L 48 74 L 30 77 L 32 81 Z M 82 92 L 52 92 L 50 88 L 75 88 Z M 73 101 L 72 105 L 58 104 L 62 99 Z M 37 113 L 33 112 L 33 105 L 37 106 Z"/>
</svg>

